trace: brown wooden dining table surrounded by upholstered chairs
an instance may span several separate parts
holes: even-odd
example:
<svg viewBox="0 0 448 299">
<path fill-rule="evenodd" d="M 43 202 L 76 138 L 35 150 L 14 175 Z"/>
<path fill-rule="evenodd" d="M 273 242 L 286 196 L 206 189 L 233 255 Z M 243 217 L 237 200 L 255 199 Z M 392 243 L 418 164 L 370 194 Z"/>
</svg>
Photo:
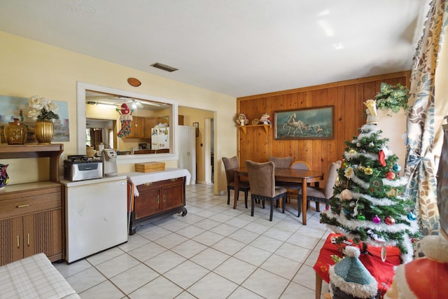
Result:
<svg viewBox="0 0 448 299">
<path fill-rule="evenodd" d="M 233 201 L 233 209 L 237 209 L 239 192 L 236 190 L 238 190 L 240 176 L 248 176 L 246 167 L 235 169 L 235 197 Z M 302 183 L 302 199 L 305 199 L 302 200 L 302 224 L 307 225 L 307 185 L 308 183 L 318 183 L 319 181 L 322 181 L 323 173 L 316 170 L 275 168 L 274 176 L 276 181 Z"/>
</svg>

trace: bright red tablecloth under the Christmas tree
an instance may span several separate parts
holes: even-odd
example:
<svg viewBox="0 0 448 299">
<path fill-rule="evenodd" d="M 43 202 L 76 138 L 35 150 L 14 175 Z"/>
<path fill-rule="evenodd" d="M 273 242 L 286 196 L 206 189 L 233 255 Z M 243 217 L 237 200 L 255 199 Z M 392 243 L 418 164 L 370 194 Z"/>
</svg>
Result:
<svg viewBox="0 0 448 299">
<path fill-rule="evenodd" d="M 317 258 L 316 264 L 314 264 L 314 270 L 316 273 L 322 277 L 323 280 L 329 282 L 330 274 L 328 273 L 328 269 L 330 265 L 335 265 L 335 262 L 332 260 L 332 255 L 337 255 L 342 257 L 340 252 L 341 246 L 346 246 L 344 244 L 333 244 L 330 239 L 331 237 L 339 237 L 337 234 L 330 234 L 325 243 L 321 248 L 321 252 Z M 351 246 L 358 246 L 361 248 L 361 245 L 352 244 Z M 392 278 L 395 274 L 394 267 L 400 265 L 400 250 L 397 247 L 388 246 L 386 247 L 386 260 L 383 262 L 381 260 L 381 247 L 375 246 L 367 246 L 368 253 L 361 253 L 359 256 L 359 260 L 367 270 L 369 270 L 370 274 L 374 277 L 374 279 L 378 282 L 378 291 L 384 291 L 391 286 Z M 386 286 L 384 286 L 386 285 Z"/>
</svg>

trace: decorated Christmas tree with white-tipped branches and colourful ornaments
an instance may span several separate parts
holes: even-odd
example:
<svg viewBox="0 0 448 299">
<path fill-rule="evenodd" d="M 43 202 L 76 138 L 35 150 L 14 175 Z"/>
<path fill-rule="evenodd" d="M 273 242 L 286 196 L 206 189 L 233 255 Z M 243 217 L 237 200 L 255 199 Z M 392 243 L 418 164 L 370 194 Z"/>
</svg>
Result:
<svg viewBox="0 0 448 299">
<path fill-rule="evenodd" d="M 377 127 L 375 100 L 367 100 L 367 123 L 357 137 L 346 141 L 344 161 L 330 207 L 321 222 L 343 239 L 367 246 L 398 246 L 402 262 L 412 260 L 412 238 L 419 235 L 413 202 L 403 191 L 407 179 L 400 177 L 398 156 L 386 146 Z"/>
</svg>

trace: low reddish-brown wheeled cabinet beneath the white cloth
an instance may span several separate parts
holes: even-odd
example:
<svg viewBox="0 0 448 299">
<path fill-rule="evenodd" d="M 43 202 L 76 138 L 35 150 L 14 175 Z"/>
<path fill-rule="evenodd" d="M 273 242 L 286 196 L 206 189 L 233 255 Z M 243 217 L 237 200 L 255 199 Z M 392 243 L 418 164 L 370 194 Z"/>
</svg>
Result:
<svg viewBox="0 0 448 299">
<path fill-rule="evenodd" d="M 187 214 L 185 208 L 186 178 L 167 179 L 137 186 L 139 196 L 134 197 L 131 213 L 130 235 L 135 234 L 138 225 L 163 218 L 168 214 Z"/>
</svg>

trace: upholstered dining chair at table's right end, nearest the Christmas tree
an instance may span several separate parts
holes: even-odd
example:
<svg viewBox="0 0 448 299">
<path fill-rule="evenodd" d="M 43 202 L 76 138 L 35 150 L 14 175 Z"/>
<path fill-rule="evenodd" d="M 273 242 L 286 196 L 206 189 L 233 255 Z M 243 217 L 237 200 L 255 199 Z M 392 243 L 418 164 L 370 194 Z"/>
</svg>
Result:
<svg viewBox="0 0 448 299">
<path fill-rule="evenodd" d="M 338 160 L 332 162 L 328 168 L 327 181 L 325 182 L 325 188 L 319 187 L 307 187 L 307 207 L 310 200 L 316 202 L 316 211 L 320 211 L 319 204 L 325 202 L 325 208 L 328 207 L 328 200 L 333 195 L 333 188 L 335 187 L 337 180 L 337 169 L 342 165 L 342 161 Z M 299 190 L 297 196 L 297 217 L 300 216 L 302 210 L 302 189 Z M 306 213 L 307 211 L 304 211 Z"/>
</svg>

